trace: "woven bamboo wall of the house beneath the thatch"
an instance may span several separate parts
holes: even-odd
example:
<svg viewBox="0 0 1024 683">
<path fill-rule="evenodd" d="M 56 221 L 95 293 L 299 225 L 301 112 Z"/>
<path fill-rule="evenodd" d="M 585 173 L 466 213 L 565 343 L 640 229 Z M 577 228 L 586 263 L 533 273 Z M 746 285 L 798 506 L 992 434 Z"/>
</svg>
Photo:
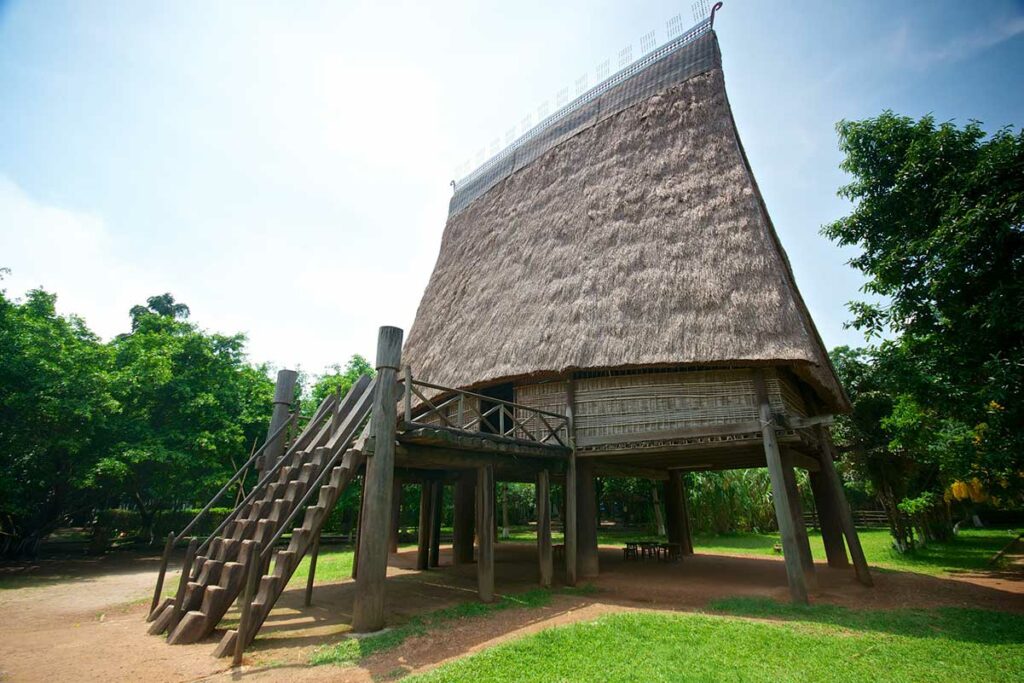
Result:
<svg viewBox="0 0 1024 683">
<path fill-rule="evenodd" d="M 765 378 L 772 412 L 806 416 L 799 389 L 787 378 Z M 516 387 L 516 402 L 565 412 L 565 382 Z M 575 434 L 590 437 L 731 425 L 759 419 L 750 370 L 631 372 L 575 380 Z"/>
</svg>

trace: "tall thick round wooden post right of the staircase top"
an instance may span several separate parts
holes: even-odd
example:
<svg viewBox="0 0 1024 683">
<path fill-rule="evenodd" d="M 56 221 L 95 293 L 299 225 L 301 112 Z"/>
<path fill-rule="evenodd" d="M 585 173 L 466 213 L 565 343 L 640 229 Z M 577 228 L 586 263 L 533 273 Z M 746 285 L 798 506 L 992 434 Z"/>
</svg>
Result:
<svg viewBox="0 0 1024 683">
<path fill-rule="evenodd" d="M 364 510 L 359 522 L 359 571 L 355 579 L 352 631 L 367 633 L 384 626 L 384 580 L 387 577 L 388 529 L 394 446 L 397 438 L 398 367 L 402 332 L 384 327 L 377 338 L 377 391 L 371 420 L 374 455 L 367 460 Z"/>
</svg>

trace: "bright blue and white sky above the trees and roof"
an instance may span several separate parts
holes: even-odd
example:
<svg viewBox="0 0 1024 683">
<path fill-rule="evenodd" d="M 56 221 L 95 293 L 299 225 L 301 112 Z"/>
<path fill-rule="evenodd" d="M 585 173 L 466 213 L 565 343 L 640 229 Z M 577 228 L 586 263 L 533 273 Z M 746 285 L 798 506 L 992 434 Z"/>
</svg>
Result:
<svg viewBox="0 0 1024 683">
<path fill-rule="evenodd" d="M 103 338 L 171 292 L 253 361 L 318 373 L 413 324 L 450 181 L 691 0 L 0 0 L 0 288 Z M 835 126 L 1024 123 L 1024 1 L 726 0 L 726 87 L 826 346 L 862 276 Z"/>
</svg>

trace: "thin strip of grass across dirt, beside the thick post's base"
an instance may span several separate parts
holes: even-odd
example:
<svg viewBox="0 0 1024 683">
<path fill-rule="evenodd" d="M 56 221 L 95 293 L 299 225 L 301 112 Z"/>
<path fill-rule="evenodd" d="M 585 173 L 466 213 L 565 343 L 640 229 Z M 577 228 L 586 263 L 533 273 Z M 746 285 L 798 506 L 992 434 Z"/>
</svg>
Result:
<svg viewBox="0 0 1024 683">
<path fill-rule="evenodd" d="M 593 589 L 562 589 L 559 593 L 588 593 Z M 516 595 L 503 596 L 497 602 L 463 602 L 453 607 L 437 609 L 427 614 L 414 616 L 400 626 L 381 634 L 364 638 L 346 638 L 339 643 L 318 648 L 309 657 L 311 665 L 351 665 L 381 652 L 397 647 L 408 638 L 422 636 L 429 631 L 442 628 L 445 624 L 463 618 L 476 618 L 513 607 L 543 607 L 551 602 L 552 591 L 537 589 Z"/>
</svg>

